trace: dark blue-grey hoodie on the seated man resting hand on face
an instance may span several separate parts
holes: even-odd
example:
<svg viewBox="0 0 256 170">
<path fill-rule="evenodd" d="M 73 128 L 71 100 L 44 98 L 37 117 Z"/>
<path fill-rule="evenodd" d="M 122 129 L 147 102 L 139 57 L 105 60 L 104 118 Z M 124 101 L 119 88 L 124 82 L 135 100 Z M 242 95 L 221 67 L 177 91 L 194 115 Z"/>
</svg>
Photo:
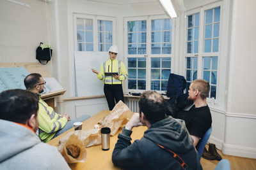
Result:
<svg viewBox="0 0 256 170">
<path fill-rule="evenodd" d="M 187 169 L 202 169 L 198 153 L 183 120 L 165 118 L 144 132 L 144 137 L 131 144 L 131 133 L 123 129 L 112 155 L 113 163 L 124 169 L 182 169 L 164 146 L 181 157 Z"/>
</svg>

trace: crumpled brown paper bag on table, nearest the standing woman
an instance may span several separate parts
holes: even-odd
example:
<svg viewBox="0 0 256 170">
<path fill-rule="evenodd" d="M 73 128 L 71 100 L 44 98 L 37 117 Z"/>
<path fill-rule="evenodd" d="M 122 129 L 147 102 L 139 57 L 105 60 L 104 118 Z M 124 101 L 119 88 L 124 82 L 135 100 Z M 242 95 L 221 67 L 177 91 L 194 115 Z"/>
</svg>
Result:
<svg viewBox="0 0 256 170">
<path fill-rule="evenodd" d="M 109 127 L 111 129 L 110 135 L 114 136 L 120 127 L 124 127 L 127 124 L 132 114 L 127 105 L 119 101 L 109 115 L 102 118 L 98 124 L 102 127 Z"/>
</svg>

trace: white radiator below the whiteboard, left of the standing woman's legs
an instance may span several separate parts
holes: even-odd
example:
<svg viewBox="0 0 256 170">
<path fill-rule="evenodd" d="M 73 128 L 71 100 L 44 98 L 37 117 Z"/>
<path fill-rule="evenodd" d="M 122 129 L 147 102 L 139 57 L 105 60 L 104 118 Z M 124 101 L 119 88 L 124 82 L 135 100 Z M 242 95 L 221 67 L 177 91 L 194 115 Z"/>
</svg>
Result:
<svg viewBox="0 0 256 170">
<path fill-rule="evenodd" d="M 102 110 L 109 110 L 108 103 L 86 103 L 86 104 L 76 104 L 75 105 L 75 115 L 76 118 L 81 115 L 93 116 Z"/>
</svg>

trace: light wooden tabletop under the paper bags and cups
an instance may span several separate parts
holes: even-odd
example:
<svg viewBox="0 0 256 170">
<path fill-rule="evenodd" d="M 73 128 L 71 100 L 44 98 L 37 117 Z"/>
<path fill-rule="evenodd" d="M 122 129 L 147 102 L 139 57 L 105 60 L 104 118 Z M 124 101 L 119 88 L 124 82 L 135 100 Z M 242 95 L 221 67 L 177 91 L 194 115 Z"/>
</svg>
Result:
<svg viewBox="0 0 256 170">
<path fill-rule="evenodd" d="M 83 122 L 83 130 L 93 129 L 94 125 L 99 122 L 99 120 L 106 115 L 108 115 L 110 111 L 103 110 L 93 115 L 93 117 L 88 118 Z M 131 112 L 132 113 L 132 112 Z M 132 115 L 132 114 L 131 114 Z M 143 137 L 144 132 L 147 130 L 147 127 L 134 127 L 132 129 L 132 141 L 134 139 L 140 139 Z M 74 131 L 74 128 L 70 129 L 67 132 Z M 48 142 L 49 145 L 58 146 L 58 142 L 62 136 L 67 134 L 67 132 L 61 134 L 60 136 L 52 139 Z M 103 151 L 101 145 L 91 146 L 86 148 L 87 152 L 87 160 L 86 162 L 79 162 L 76 164 L 69 164 L 71 169 L 120 169 L 112 163 L 111 157 L 112 152 L 115 148 L 115 144 L 117 141 L 117 136 L 121 132 L 121 129 L 116 133 L 115 136 L 110 138 L 110 146 L 108 151 Z"/>
</svg>

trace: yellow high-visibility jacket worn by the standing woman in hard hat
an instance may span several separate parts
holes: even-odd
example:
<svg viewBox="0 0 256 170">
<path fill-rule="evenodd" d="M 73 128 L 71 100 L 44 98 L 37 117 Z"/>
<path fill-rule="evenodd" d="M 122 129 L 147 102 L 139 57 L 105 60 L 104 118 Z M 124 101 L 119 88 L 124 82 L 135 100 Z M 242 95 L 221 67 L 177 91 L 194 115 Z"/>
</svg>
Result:
<svg viewBox="0 0 256 170">
<path fill-rule="evenodd" d="M 113 76 L 105 76 L 104 73 L 118 73 L 119 79 L 115 79 Z M 108 85 L 116 85 L 116 84 L 122 84 L 122 81 L 127 79 L 128 73 L 125 69 L 124 62 L 120 60 L 107 60 L 106 62 L 103 62 L 100 66 L 100 72 L 97 74 L 97 78 L 99 80 L 104 81 L 105 84 Z"/>
</svg>

